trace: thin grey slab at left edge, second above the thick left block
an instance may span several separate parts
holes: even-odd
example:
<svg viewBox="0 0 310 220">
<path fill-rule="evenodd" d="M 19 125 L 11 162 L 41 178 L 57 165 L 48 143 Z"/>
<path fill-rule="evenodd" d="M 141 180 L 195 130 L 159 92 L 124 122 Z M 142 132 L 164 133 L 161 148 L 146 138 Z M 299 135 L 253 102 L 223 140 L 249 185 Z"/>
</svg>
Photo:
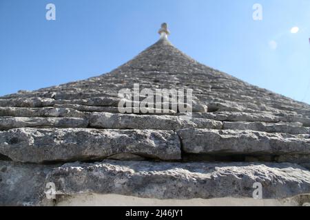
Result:
<svg viewBox="0 0 310 220">
<path fill-rule="evenodd" d="M 85 118 L 85 113 L 68 108 L 17 108 L 0 107 L 0 116 L 14 117 L 70 117 Z"/>
</svg>

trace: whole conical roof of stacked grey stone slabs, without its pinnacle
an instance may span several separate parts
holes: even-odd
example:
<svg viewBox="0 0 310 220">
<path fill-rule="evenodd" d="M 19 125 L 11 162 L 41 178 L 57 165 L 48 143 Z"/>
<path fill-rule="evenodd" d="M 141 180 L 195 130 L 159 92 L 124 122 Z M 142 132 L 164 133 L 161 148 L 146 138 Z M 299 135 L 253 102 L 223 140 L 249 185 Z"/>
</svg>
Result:
<svg viewBox="0 0 310 220">
<path fill-rule="evenodd" d="M 118 92 L 135 83 L 193 89 L 192 118 L 119 113 Z M 310 193 L 310 106 L 200 64 L 162 37 L 108 74 L 1 97 L 0 159 L 2 205 L 50 204 L 48 182 L 62 197 L 246 198 L 256 182 L 263 199 L 296 197 Z"/>
</svg>

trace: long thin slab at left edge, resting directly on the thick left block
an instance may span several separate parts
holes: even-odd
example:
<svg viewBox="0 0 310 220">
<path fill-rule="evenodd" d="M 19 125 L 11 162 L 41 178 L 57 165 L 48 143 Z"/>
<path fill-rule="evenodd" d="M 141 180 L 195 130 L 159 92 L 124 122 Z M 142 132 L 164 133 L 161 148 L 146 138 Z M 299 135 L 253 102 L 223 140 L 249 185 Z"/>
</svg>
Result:
<svg viewBox="0 0 310 220">
<path fill-rule="evenodd" d="M 86 118 L 0 117 L 0 130 L 21 127 L 86 128 L 87 126 Z"/>
</svg>

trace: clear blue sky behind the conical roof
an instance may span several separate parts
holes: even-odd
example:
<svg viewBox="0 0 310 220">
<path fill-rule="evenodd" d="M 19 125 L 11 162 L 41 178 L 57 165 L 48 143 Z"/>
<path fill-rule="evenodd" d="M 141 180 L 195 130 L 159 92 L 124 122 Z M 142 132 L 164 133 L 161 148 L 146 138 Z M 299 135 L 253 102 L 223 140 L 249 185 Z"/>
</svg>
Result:
<svg viewBox="0 0 310 220">
<path fill-rule="evenodd" d="M 309 0 L 0 0 L 0 96 L 110 72 L 155 43 L 163 22 L 200 63 L 310 103 Z"/>
</svg>

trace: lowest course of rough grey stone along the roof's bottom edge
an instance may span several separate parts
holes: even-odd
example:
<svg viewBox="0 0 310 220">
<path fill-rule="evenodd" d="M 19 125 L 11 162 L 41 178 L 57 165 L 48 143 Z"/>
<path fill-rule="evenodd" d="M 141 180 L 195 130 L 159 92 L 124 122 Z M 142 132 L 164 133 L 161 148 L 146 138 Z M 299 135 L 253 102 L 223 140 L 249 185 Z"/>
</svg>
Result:
<svg viewBox="0 0 310 220">
<path fill-rule="evenodd" d="M 254 182 L 262 184 L 263 199 L 310 193 L 310 171 L 287 163 L 182 164 L 105 160 L 58 166 L 0 161 L 0 179 L 1 206 L 53 205 L 53 201 L 45 197 L 48 182 L 56 185 L 57 197 L 112 193 L 156 199 L 251 198 Z"/>
</svg>

